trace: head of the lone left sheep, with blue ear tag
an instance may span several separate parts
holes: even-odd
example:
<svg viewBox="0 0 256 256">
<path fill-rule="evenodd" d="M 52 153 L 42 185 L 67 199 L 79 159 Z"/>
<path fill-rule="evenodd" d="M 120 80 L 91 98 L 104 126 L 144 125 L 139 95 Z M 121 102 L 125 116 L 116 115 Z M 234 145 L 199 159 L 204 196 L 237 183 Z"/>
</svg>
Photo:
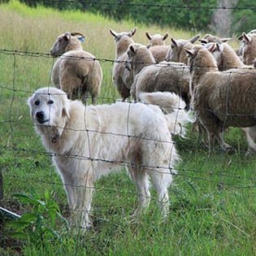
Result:
<svg viewBox="0 0 256 256">
<path fill-rule="evenodd" d="M 76 37 L 76 36 L 80 37 Z M 63 33 L 54 42 L 50 50 L 53 57 L 58 57 L 69 50 L 82 50 L 81 41 L 85 40 L 85 36 L 81 33 Z"/>
</svg>

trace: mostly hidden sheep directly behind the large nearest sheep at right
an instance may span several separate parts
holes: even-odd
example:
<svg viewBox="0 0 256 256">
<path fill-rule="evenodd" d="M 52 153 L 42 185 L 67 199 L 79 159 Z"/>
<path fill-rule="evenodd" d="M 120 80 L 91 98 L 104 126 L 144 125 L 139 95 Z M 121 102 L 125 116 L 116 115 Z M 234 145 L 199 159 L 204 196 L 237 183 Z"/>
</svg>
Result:
<svg viewBox="0 0 256 256">
<path fill-rule="evenodd" d="M 215 57 L 219 71 L 225 71 L 231 68 L 254 68 L 252 66 L 245 65 L 237 56 L 235 50 L 233 50 L 228 43 L 208 43 L 206 44 L 206 48 L 210 50 Z M 248 144 L 248 149 L 245 155 L 249 155 L 256 152 L 256 144 L 254 143 L 256 138 L 256 127 L 243 128 L 243 131 L 245 132 L 245 137 Z"/>
</svg>

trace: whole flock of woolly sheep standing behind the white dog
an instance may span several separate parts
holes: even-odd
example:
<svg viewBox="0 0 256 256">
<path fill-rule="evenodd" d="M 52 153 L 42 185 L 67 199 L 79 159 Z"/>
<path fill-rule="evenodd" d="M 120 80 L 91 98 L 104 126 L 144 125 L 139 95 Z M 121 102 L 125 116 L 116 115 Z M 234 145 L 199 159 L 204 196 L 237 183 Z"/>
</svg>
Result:
<svg viewBox="0 0 256 256">
<path fill-rule="evenodd" d="M 228 127 L 245 131 L 246 154 L 256 151 L 256 30 L 242 33 L 238 50 L 228 45 L 232 38 L 210 34 L 189 40 L 171 38 L 168 34 L 150 35 L 148 46 L 133 41 L 137 32 L 117 33 L 112 79 L 120 97 L 143 101 L 143 92 L 171 92 L 185 102 L 185 111 L 193 111 L 194 127 L 208 138 L 208 149 L 219 141 L 225 151 L 233 150 L 223 139 Z M 85 100 L 91 95 L 97 104 L 102 84 L 102 67 L 98 59 L 82 49 L 85 36 L 63 33 L 50 50 L 54 63 L 51 80 L 68 98 Z M 198 43 L 196 44 L 196 42 Z"/>
</svg>

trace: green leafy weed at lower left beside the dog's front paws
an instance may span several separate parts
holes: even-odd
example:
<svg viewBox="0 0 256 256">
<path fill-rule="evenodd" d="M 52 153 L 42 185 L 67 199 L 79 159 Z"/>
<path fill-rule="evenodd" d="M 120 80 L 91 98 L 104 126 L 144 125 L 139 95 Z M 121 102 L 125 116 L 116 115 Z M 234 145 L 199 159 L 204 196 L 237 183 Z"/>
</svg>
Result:
<svg viewBox="0 0 256 256">
<path fill-rule="evenodd" d="M 46 191 L 43 199 L 36 193 L 15 193 L 13 196 L 20 203 L 31 207 L 31 210 L 22 215 L 20 219 L 7 223 L 11 238 L 30 241 L 34 244 L 62 241 L 59 225 L 63 223 L 63 230 L 67 230 L 67 220 L 60 214 L 53 192 Z"/>
</svg>

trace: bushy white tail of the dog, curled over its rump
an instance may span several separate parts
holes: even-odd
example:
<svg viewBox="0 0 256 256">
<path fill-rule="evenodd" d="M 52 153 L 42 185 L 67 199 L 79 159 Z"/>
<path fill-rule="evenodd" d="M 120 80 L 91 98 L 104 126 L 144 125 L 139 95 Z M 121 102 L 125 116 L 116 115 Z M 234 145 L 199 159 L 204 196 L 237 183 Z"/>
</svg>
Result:
<svg viewBox="0 0 256 256">
<path fill-rule="evenodd" d="M 141 92 L 138 95 L 141 102 L 158 105 L 165 114 L 169 131 L 185 137 L 186 124 L 193 122 L 187 111 L 184 111 L 185 102 L 176 93 L 169 92 Z"/>
</svg>

